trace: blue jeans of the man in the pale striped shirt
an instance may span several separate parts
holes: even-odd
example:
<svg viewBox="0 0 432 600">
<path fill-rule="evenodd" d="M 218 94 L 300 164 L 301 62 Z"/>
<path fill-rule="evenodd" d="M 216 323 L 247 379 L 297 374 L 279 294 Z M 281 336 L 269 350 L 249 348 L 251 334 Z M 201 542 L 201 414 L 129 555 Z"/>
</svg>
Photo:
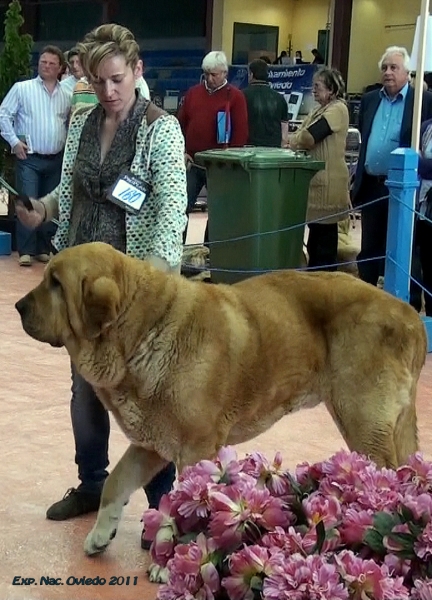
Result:
<svg viewBox="0 0 432 600">
<path fill-rule="evenodd" d="M 20 194 L 33 198 L 41 198 L 53 191 L 60 183 L 63 153 L 52 157 L 40 154 L 29 154 L 26 159 L 16 161 L 16 188 Z M 36 229 L 28 229 L 18 219 L 16 237 L 18 254 L 49 254 L 51 239 L 56 232 L 53 223 L 43 223 Z"/>
</svg>

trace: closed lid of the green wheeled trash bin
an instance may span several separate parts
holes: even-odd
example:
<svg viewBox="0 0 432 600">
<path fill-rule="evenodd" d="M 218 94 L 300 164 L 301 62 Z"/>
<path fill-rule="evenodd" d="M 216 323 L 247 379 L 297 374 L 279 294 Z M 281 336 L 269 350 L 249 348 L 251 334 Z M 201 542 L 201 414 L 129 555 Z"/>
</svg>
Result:
<svg viewBox="0 0 432 600">
<path fill-rule="evenodd" d="M 205 150 L 195 154 L 195 162 L 206 166 L 209 163 L 237 164 L 249 169 L 308 169 L 320 171 L 325 162 L 313 160 L 304 151 L 295 152 L 289 148 L 267 148 L 264 146 L 245 146 L 226 150 Z"/>
</svg>

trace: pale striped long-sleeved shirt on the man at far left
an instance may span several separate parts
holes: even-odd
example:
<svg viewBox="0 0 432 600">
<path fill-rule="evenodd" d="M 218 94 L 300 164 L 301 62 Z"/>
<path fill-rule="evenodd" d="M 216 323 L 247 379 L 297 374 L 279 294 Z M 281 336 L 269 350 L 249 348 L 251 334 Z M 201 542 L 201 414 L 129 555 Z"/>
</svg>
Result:
<svg viewBox="0 0 432 600">
<path fill-rule="evenodd" d="M 0 106 L 0 133 L 11 148 L 25 138 L 32 152 L 57 154 L 65 145 L 70 105 L 70 95 L 59 83 L 50 94 L 39 75 L 19 81 Z"/>
</svg>

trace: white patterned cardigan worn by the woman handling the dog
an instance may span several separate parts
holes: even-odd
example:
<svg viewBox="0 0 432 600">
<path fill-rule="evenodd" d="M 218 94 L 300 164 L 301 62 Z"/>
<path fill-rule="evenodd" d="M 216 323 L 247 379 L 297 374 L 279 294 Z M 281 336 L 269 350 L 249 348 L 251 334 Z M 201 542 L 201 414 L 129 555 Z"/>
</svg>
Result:
<svg viewBox="0 0 432 600">
<path fill-rule="evenodd" d="M 73 115 L 66 140 L 59 186 L 42 199 L 48 218 L 58 207 L 59 226 L 54 246 L 69 246 L 73 202 L 73 170 L 81 132 L 94 108 Z M 138 215 L 126 214 L 126 254 L 156 258 L 173 268 L 181 263 L 182 233 L 186 226 L 186 169 L 184 138 L 177 119 L 163 115 L 150 126 L 144 117 L 138 128 L 131 172 L 151 184 L 151 191 Z"/>
</svg>

